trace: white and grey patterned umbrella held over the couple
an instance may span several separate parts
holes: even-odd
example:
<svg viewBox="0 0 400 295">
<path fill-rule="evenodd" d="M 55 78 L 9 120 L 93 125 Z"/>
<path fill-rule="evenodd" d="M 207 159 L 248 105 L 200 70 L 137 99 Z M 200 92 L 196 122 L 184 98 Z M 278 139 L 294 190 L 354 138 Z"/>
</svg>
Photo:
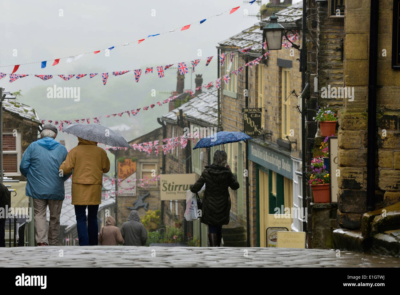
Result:
<svg viewBox="0 0 400 295">
<path fill-rule="evenodd" d="M 74 134 L 82 139 L 96 141 L 111 146 L 131 147 L 120 133 L 100 124 L 74 123 L 62 127 L 62 131 Z M 131 147 L 132 148 L 132 147 Z"/>
</svg>

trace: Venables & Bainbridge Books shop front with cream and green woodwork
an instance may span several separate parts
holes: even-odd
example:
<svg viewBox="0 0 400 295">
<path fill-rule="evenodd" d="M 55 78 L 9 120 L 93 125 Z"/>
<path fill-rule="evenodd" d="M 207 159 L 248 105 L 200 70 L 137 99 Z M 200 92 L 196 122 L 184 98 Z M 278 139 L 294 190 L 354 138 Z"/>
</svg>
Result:
<svg viewBox="0 0 400 295">
<path fill-rule="evenodd" d="M 292 230 L 293 161 L 290 153 L 272 150 L 256 141 L 249 143 L 248 160 L 256 168 L 257 247 L 268 247 L 269 214 L 283 218 L 282 224 Z"/>
</svg>

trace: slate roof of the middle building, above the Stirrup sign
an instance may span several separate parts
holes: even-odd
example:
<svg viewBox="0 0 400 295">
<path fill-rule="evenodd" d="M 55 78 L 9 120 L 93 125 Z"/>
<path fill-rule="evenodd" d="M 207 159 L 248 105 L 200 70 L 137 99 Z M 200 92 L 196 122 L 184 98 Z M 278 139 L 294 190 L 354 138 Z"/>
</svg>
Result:
<svg viewBox="0 0 400 295">
<path fill-rule="evenodd" d="M 179 110 L 182 109 L 183 116 L 190 121 L 200 121 L 205 126 L 218 125 L 218 89 L 211 87 L 190 99 L 180 107 L 173 109 L 162 116 L 162 119 L 177 121 Z"/>
</svg>

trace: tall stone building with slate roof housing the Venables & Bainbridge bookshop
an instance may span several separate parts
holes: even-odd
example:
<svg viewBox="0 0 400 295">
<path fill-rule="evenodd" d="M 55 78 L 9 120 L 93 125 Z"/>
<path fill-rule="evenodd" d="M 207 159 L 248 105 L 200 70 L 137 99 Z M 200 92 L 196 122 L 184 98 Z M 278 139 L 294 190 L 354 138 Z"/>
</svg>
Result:
<svg viewBox="0 0 400 295">
<path fill-rule="evenodd" d="M 285 9 L 283 9 L 285 8 Z M 296 34 L 296 44 L 301 40 L 302 4 L 294 4 L 277 12 L 278 21 Z M 265 51 L 261 28 L 269 22 L 264 18 L 251 28 L 219 42 L 218 53 L 226 53 L 221 76 L 245 66 Z M 252 46 L 248 53 L 232 50 Z M 226 145 L 228 163 L 237 174 L 241 189 L 232 192 L 231 220 L 248 235 L 252 247 L 266 247 L 268 214 L 275 208 L 301 206 L 300 167 L 301 121 L 296 109 L 301 92 L 299 51 L 284 48 L 271 51 L 258 65 L 244 67 L 238 75 L 230 74 L 230 82 L 222 85 L 220 124 L 224 131 L 244 131 L 242 109 L 254 108 L 261 112 L 260 132 L 254 140 Z M 224 84 L 224 83 L 221 83 Z M 282 166 L 268 163 L 258 155 L 267 154 L 279 159 Z M 283 167 L 285 166 L 285 168 Z M 246 176 L 245 171 L 248 171 Z M 248 208 L 247 208 L 248 204 Z M 283 214 L 283 212 L 282 212 Z M 292 220 L 288 230 L 302 230 L 300 220 Z"/>
</svg>

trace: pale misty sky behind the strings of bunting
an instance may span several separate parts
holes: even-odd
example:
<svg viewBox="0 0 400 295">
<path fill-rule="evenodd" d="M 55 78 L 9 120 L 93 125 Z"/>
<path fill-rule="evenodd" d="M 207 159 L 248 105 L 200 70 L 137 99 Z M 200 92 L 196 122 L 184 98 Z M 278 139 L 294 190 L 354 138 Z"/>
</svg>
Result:
<svg viewBox="0 0 400 295">
<path fill-rule="evenodd" d="M 298 2 L 296 0 L 293 3 Z M 265 3 L 265 1 L 263 1 Z M 208 18 L 224 10 L 241 6 L 238 11 L 229 15 L 224 13 L 221 16 Z M 204 67 L 206 57 L 216 55 L 216 45 L 219 41 L 225 40 L 237 34 L 241 30 L 252 26 L 258 21 L 255 17 L 243 17 L 243 10 L 256 14 L 260 9 L 257 3 L 244 5 L 242 0 L 203 0 L 203 1 L 10 1 L 2 0 L 2 18 L 0 20 L 1 44 L 0 44 L 0 65 L 12 65 L 0 67 L 0 72 L 11 73 L 13 65 L 43 61 L 79 55 L 81 53 L 96 51 L 110 46 L 124 44 L 132 40 L 145 38 L 150 34 L 157 34 L 173 28 L 181 28 L 194 21 L 208 18 L 203 24 L 192 24 L 190 29 L 174 33 L 166 33 L 144 40 L 137 44 L 134 42 L 129 46 L 116 47 L 110 52 L 110 57 L 105 57 L 104 51 L 94 55 L 84 55 L 81 59 L 72 63 L 65 63 L 66 59 L 60 60 L 56 66 L 52 61 L 47 62 L 47 67 L 40 68 L 40 63 L 32 65 L 21 65 L 17 73 L 20 74 L 77 74 L 77 73 L 102 73 L 121 71 L 126 69 L 143 69 L 150 66 L 167 65 L 201 58 L 201 64 L 196 67 L 196 73 L 202 73 L 204 82 L 216 79 L 216 58 L 210 66 Z M 59 16 L 59 10 L 63 9 L 64 16 Z M 151 16 L 152 9 L 156 16 Z M 13 57 L 13 50 L 17 50 L 17 57 Z M 201 49 L 202 57 L 198 57 L 198 50 Z M 189 65 L 188 65 L 189 66 Z M 176 89 L 176 70 L 165 72 L 165 75 L 172 75 L 174 78 L 164 81 L 157 77 L 156 73 L 144 76 L 141 81 L 146 83 L 135 83 L 133 73 L 121 77 L 110 76 L 106 86 L 102 85 L 100 75 L 89 79 L 88 76 L 76 80 L 63 81 L 60 77 L 53 77 L 49 81 L 42 81 L 37 77 L 24 77 L 13 83 L 8 83 L 8 76 L 0 80 L 0 86 L 6 91 L 22 90 L 25 94 L 20 98 L 22 103 L 29 104 L 36 109 L 39 117 L 46 114 L 50 116 L 54 107 L 60 107 L 63 118 L 74 119 L 69 113 L 78 112 L 83 117 L 95 117 L 109 113 L 116 113 L 125 109 L 133 109 L 142 106 L 140 95 L 132 98 L 128 93 L 150 93 L 151 89 L 157 91 Z M 103 91 L 112 93 L 120 87 L 120 83 L 111 80 L 121 79 L 129 91 L 118 95 L 113 100 L 118 100 L 115 105 L 104 105 L 104 111 L 92 111 L 91 105 L 96 105 L 96 99 L 91 98 L 85 101 L 85 91 Z M 162 78 L 164 79 L 164 78 Z M 194 76 L 193 88 L 194 88 Z M 119 82 L 121 82 L 119 81 Z M 56 84 L 58 87 L 79 86 L 81 101 L 85 102 L 85 108 L 80 103 L 68 101 L 58 106 L 57 99 L 47 99 L 47 87 Z M 145 87 L 144 87 L 144 84 Z M 32 101 L 26 97 L 31 89 L 35 88 L 40 93 L 40 101 Z M 107 88 L 106 90 L 104 90 Z M 185 88 L 190 88 L 190 75 L 185 77 Z M 167 96 L 168 97 L 168 96 Z M 165 99 L 166 97 L 162 97 Z M 36 98 L 35 98 L 36 99 Z M 160 98 L 154 99 L 158 101 Z M 124 106 L 124 108 L 122 108 Z M 98 107 L 98 106 L 97 106 Z M 164 106 L 163 106 L 164 107 Z M 121 109 L 122 108 L 122 109 Z M 166 112 L 168 109 L 165 109 Z M 146 113 L 145 115 L 150 115 Z M 140 119 L 140 113 L 136 119 Z M 156 121 L 154 116 L 154 121 Z M 106 121 L 102 121 L 106 125 Z M 118 122 L 114 121 L 114 125 Z M 123 123 L 123 121 L 121 121 Z M 155 122 L 155 125 L 157 123 Z M 158 125 L 159 126 L 159 125 Z M 158 127 L 155 126 L 155 127 Z M 127 138 L 128 140 L 132 138 Z"/>
</svg>

